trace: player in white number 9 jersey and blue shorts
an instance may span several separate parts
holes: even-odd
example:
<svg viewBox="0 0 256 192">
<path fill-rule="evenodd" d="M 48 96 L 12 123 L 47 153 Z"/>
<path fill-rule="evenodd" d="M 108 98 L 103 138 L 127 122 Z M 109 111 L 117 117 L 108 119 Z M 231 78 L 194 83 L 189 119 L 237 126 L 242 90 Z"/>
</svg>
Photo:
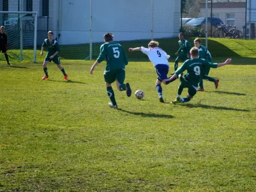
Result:
<svg viewBox="0 0 256 192">
<path fill-rule="evenodd" d="M 148 44 L 148 48 L 140 47 L 140 48 L 129 48 L 130 52 L 133 51 L 142 51 L 148 56 L 148 59 L 153 63 L 156 72 L 158 74 L 158 79 L 156 81 L 156 87 L 158 90 L 159 101 L 164 103 L 164 99 L 162 96 L 162 87 L 161 83 L 164 79 L 167 79 L 167 74 L 169 72 L 169 62 L 168 59 L 170 55 L 161 49 L 158 48 L 159 43 L 157 41 L 150 41 Z M 175 79 L 174 79 L 175 80 Z M 173 80 L 173 81 L 174 81 Z M 171 82 L 168 82 L 171 83 Z"/>
</svg>

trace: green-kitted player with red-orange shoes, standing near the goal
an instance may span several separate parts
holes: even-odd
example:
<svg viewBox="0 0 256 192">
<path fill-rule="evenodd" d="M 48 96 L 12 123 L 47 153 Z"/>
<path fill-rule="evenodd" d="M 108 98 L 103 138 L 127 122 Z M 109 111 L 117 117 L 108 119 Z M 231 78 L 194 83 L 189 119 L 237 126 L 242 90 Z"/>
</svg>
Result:
<svg viewBox="0 0 256 192">
<path fill-rule="evenodd" d="M 43 45 L 42 45 L 42 50 L 41 50 L 41 56 L 44 54 L 43 50 L 44 48 L 47 47 L 48 51 L 43 63 L 43 68 L 44 68 L 44 72 L 45 72 L 45 76 L 42 78 L 42 80 L 45 80 L 49 77 L 48 75 L 48 71 L 47 71 L 47 64 L 48 62 L 53 61 L 54 63 L 57 64 L 57 67 L 61 70 L 61 72 L 64 75 L 64 79 L 68 80 L 68 75 L 65 72 L 64 68 L 61 66 L 61 60 L 59 57 L 59 53 L 60 53 L 60 46 L 58 44 L 58 42 L 56 40 L 53 39 L 53 32 L 49 31 L 48 32 L 48 39 L 45 39 Z"/>
</svg>

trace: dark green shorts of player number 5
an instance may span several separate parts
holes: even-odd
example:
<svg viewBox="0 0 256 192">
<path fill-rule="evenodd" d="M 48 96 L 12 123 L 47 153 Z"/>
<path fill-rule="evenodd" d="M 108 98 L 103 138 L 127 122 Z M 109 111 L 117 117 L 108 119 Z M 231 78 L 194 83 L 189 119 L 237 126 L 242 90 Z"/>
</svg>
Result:
<svg viewBox="0 0 256 192">
<path fill-rule="evenodd" d="M 111 70 L 111 71 L 105 71 L 104 72 L 104 80 L 108 84 L 112 84 L 116 80 L 120 84 L 123 84 L 124 79 L 125 79 L 125 69 L 116 69 L 116 70 Z"/>
</svg>

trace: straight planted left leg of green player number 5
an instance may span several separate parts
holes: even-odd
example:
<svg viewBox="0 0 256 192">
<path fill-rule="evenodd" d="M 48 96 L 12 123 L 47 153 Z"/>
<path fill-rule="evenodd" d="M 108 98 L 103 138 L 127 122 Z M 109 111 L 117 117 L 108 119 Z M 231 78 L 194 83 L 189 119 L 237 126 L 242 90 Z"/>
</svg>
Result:
<svg viewBox="0 0 256 192">
<path fill-rule="evenodd" d="M 104 80 L 107 87 L 108 96 L 110 97 L 111 103 L 109 103 L 110 108 L 118 108 L 116 104 L 115 94 L 112 89 L 111 84 L 115 81 L 116 76 L 114 72 L 105 71 L 104 72 Z"/>
</svg>

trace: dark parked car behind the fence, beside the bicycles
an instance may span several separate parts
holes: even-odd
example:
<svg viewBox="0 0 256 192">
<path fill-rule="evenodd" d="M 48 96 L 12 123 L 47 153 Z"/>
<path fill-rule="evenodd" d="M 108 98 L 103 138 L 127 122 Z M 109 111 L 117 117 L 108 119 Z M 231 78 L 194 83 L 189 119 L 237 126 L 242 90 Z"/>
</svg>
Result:
<svg viewBox="0 0 256 192">
<path fill-rule="evenodd" d="M 212 19 L 212 26 L 218 27 L 218 24 L 223 24 L 221 19 L 218 17 L 208 17 L 207 18 L 207 23 L 210 24 Z M 206 18 L 205 17 L 195 17 L 194 19 L 190 20 L 187 22 L 185 25 L 188 27 L 202 27 L 203 24 L 206 24 Z"/>
</svg>

